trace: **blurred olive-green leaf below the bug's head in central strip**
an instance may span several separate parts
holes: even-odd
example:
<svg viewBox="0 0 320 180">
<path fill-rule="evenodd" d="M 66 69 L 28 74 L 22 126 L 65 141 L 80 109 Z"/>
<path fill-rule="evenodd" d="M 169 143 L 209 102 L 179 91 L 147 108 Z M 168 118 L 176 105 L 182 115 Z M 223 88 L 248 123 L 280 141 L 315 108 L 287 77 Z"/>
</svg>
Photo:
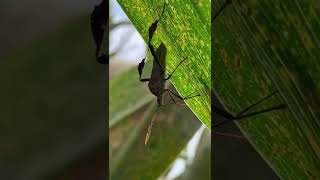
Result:
<svg viewBox="0 0 320 180">
<path fill-rule="evenodd" d="M 147 108 L 147 110 L 145 110 Z M 143 116 L 141 113 L 145 112 Z M 152 118 L 151 137 L 144 145 Z M 186 106 L 163 106 L 156 114 L 156 103 L 110 129 L 110 179 L 156 179 L 176 159 L 201 123 Z"/>
</svg>

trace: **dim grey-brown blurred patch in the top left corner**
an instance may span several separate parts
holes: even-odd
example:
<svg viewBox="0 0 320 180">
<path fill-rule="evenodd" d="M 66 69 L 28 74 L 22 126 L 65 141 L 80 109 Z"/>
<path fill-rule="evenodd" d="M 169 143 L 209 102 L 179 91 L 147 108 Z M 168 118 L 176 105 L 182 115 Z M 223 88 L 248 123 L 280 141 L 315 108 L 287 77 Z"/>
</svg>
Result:
<svg viewBox="0 0 320 180">
<path fill-rule="evenodd" d="M 1 1 L 1 57 L 48 32 L 54 32 L 70 19 L 89 13 L 97 2 L 99 1 Z"/>
</svg>

